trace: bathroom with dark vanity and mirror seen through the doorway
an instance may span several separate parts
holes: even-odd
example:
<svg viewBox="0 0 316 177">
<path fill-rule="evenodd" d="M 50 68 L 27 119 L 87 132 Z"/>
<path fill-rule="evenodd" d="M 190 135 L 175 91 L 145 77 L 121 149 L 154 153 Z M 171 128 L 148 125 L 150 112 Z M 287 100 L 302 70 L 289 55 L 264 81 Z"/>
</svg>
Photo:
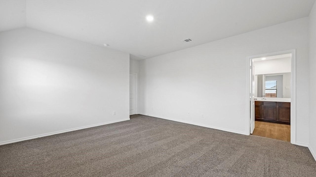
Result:
<svg viewBox="0 0 316 177">
<path fill-rule="evenodd" d="M 254 116 L 252 135 L 291 140 L 291 56 L 253 59 Z"/>
</svg>

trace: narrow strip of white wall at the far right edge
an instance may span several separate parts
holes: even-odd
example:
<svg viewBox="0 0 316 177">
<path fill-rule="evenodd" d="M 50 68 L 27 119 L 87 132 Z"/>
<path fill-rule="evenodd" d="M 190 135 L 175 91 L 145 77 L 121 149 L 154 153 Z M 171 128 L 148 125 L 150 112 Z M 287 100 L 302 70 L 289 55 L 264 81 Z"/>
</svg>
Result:
<svg viewBox="0 0 316 177">
<path fill-rule="evenodd" d="M 316 3 L 310 14 L 310 144 L 316 159 Z"/>
</svg>

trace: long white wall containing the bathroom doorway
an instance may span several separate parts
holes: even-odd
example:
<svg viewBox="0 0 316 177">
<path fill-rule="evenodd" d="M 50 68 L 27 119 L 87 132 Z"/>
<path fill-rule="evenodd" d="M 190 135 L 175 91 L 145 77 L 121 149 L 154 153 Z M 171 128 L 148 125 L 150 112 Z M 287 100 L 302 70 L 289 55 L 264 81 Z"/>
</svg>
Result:
<svg viewBox="0 0 316 177">
<path fill-rule="evenodd" d="M 141 60 L 139 113 L 247 134 L 246 57 L 296 49 L 296 136 L 308 145 L 308 41 L 303 18 Z"/>
</svg>

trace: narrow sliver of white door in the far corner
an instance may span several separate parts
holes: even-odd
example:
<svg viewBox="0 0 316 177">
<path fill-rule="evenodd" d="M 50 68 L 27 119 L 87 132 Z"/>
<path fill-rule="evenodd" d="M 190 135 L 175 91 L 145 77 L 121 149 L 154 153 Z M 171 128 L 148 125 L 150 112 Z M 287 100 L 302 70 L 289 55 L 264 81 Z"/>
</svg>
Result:
<svg viewBox="0 0 316 177">
<path fill-rule="evenodd" d="M 129 73 L 129 115 L 137 114 L 137 74 Z"/>
</svg>

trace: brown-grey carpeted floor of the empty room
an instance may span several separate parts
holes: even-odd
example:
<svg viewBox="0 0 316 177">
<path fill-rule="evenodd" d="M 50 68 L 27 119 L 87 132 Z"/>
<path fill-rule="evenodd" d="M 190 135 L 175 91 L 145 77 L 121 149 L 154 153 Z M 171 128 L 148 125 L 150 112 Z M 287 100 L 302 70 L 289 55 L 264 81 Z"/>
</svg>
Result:
<svg viewBox="0 0 316 177">
<path fill-rule="evenodd" d="M 160 118 L 0 146 L 0 177 L 316 177 L 308 148 Z"/>
</svg>

